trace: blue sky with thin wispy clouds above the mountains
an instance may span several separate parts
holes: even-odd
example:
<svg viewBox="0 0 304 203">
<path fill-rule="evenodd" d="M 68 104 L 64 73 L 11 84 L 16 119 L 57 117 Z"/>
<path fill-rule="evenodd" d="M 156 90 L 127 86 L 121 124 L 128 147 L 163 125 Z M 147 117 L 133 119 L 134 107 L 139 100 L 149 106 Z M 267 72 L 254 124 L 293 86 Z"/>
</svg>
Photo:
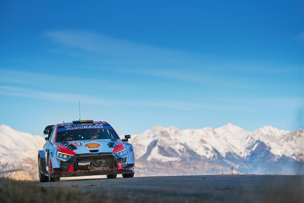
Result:
<svg viewBox="0 0 304 203">
<path fill-rule="evenodd" d="M 0 124 L 304 128 L 303 1 L 1 1 Z"/>
</svg>

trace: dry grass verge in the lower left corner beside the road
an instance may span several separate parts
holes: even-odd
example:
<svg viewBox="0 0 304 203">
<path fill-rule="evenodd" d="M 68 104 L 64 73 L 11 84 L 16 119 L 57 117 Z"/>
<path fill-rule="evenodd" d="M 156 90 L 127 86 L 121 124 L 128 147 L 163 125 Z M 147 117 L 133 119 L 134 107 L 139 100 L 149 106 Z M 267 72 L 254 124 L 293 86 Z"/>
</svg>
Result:
<svg viewBox="0 0 304 203">
<path fill-rule="evenodd" d="M 16 180 L 18 179 L 18 180 Z M 26 177 L 18 178 L 13 173 L 0 172 L 0 202 L 1 203 L 74 203 L 74 202 L 121 202 L 116 197 L 103 197 L 92 193 L 82 193 L 75 188 L 41 187 L 26 181 Z M 99 198 L 98 198 L 99 197 Z"/>
</svg>

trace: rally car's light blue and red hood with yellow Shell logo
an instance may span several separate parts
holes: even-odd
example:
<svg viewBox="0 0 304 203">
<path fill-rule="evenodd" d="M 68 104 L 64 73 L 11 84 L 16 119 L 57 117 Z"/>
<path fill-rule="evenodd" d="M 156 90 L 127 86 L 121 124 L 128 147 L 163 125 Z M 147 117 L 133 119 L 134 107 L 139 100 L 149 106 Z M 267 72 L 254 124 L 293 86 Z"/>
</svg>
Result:
<svg viewBox="0 0 304 203">
<path fill-rule="evenodd" d="M 56 142 L 55 148 L 67 154 L 86 154 L 99 152 L 118 152 L 124 148 L 120 139 L 78 140 Z M 97 151 L 98 150 L 98 151 Z"/>
</svg>

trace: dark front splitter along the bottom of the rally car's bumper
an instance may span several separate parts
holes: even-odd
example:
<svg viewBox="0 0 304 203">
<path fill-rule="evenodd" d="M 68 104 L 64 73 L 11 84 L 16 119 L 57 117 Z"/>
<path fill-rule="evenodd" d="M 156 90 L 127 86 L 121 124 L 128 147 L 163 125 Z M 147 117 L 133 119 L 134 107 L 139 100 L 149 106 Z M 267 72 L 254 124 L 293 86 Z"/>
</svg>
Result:
<svg viewBox="0 0 304 203">
<path fill-rule="evenodd" d="M 135 168 L 85 170 L 85 171 L 72 171 L 72 172 L 51 172 L 51 177 L 61 178 L 61 177 L 78 177 L 78 176 L 114 175 L 114 174 L 126 174 L 126 173 L 135 173 Z"/>
</svg>

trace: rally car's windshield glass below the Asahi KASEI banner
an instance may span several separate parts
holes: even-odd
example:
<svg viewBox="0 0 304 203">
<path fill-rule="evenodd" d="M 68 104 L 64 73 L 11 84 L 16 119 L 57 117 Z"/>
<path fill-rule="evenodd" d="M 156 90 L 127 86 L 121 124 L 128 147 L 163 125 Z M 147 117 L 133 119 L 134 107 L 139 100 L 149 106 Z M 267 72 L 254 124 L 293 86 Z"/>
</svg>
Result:
<svg viewBox="0 0 304 203">
<path fill-rule="evenodd" d="M 119 139 L 119 137 L 113 129 L 78 129 L 57 131 L 56 142 L 95 139 Z"/>
</svg>

